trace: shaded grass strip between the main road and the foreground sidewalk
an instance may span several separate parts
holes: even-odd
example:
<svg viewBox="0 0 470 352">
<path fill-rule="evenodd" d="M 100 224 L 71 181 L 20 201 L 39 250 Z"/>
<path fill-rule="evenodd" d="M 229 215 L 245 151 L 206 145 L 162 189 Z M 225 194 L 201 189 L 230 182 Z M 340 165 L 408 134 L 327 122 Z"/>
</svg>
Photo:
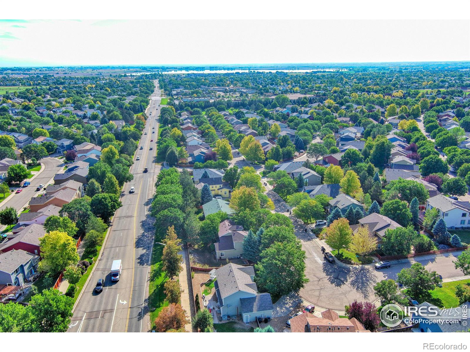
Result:
<svg viewBox="0 0 470 352">
<path fill-rule="evenodd" d="M 156 239 L 157 242 L 157 239 Z M 168 276 L 162 270 L 162 253 L 163 245 L 154 243 L 152 250 L 152 259 L 150 263 L 150 282 L 149 282 L 149 308 L 150 308 L 150 324 L 154 326 L 155 318 L 163 307 L 168 306 L 165 301 L 164 283 L 168 280 Z"/>
</svg>

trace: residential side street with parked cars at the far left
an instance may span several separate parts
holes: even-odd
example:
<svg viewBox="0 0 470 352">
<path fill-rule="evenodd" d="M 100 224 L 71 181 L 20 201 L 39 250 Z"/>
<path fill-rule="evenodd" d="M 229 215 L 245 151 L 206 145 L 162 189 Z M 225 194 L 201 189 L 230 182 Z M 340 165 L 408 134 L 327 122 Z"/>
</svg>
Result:
<svg viewBox="0 0 470 352">
<path fill-rule="evenodd" d="M 14 207 L 18 211 L 23 210 L 23 208 L 28 205 L 31 197 L 34 197 L 39 193 L 36 191 L 36 187 L 38 187 L 39 184 L 45 184 L 47 186 L 51 178 L 53 178 L 54 175 L 64 166 L 62 161 L 51 157 L 43 158 L 41 159 L 41 162 L 44 164 L 44 169 L 41 173 L 34 177 L 31 184 L 28 187 L 24 187 L 21 193 L 15 193 L 4 201 L 0 206 L 0 210 L 5 209 L 6 207 Z"/>
</svg>

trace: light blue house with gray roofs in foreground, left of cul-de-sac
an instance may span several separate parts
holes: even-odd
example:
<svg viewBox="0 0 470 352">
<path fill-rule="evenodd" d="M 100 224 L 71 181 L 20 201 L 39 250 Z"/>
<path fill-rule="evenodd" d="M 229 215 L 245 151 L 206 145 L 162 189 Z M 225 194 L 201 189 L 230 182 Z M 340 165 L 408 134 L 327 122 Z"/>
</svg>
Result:
<svg viewBox="0 0 470 352">
<path fill-rule="evenodd" d="M 220 307 L 222 320 L 227 316 L 241 315 L 243 322 L 257 318 L 272 318 L 273 301 L 269 293 L 258 293 L 253 281 L 253 267 L 229 263 L 215 271 L 215 293 Z"/>
</svg>

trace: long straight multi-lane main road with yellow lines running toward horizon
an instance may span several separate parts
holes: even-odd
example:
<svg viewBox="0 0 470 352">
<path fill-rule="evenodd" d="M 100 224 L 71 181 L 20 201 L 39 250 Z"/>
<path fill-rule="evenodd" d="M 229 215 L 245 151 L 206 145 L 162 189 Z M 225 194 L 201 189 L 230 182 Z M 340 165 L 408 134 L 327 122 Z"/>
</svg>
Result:
<svg viewBox="0 0 470 352">
<path fill-rule="evenodd" d="M 121 201 L 102 253 L 75 306 L 68 331 L 70 332 L 141 332 L 148 331 L 148 276 L 149 260 L 155 233 L 149 206 L 160 166 L 155 163 L 156 141 L 161 101 L 156 81 L 150 97 L 147 119 L 140 146 L 134 156 L 131 173 L 134 179 L 125 184 Z M 152 133 L 155 131 L 155 133 Z M 150 142 L 153 139 L 153 142 Z M 150 146 L 153 150 L 149 150 Z M 139 161 L 135 161 L 140 157 Z M 144 168 L 149 172 L 143 173 Z M 129 193 L 131 187 L 134 193 Z M 122 260 L 122 273 L 118 282 L 111 282 L 113 260 Z M 103 291 L 94 292 L 99 278 L 105 279 Z"/>
</svg>

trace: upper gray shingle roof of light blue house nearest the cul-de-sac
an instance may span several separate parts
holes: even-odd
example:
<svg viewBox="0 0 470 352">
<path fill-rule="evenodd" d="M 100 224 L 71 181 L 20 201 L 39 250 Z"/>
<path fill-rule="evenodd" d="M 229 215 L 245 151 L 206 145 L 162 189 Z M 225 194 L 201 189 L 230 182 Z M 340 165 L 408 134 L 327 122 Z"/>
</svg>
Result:
<svg viewBox="0 0 470 352">
<path fill-rule="evenodd" d="M 221 298 L 226 298 L 238 291 L 257 294 L 256 283 L 251 280 L 255 275 L 253 267 L 229 263 L 215 271 Z"/>
</svg>

